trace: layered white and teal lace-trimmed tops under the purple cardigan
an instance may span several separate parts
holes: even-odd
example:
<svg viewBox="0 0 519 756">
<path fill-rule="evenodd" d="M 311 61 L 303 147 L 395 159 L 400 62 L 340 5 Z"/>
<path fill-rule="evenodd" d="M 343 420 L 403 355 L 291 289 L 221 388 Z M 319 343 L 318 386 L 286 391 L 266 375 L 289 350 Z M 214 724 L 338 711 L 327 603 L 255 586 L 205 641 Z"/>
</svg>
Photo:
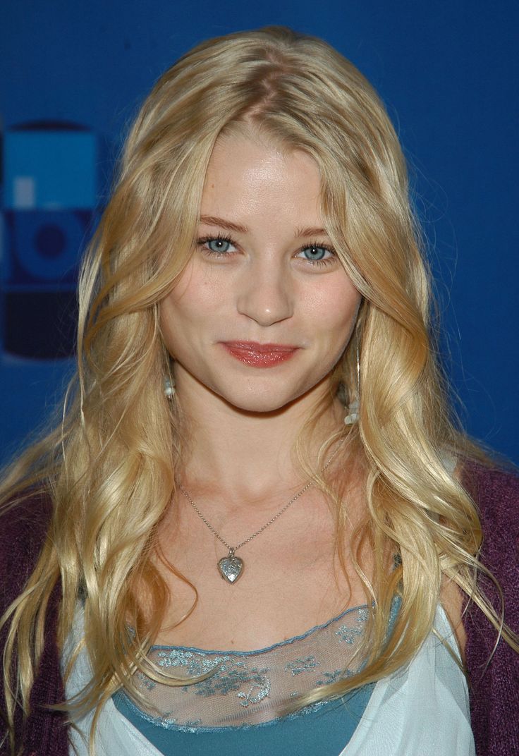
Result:
<svg viewBox="0 0 519 756">
<path fill-rule="evenodd" d="M 398 605 L 395 601 L 389 632 Z M 474 756 L 467 683 L 456 663 L 456 640 L 441 606 L 434 624 L 440 637 L 431 633 L 409 665 L 376 684 L 363 686 L 352 696 L 307 707 L 293 718 L 280 717 L 291 696 L 341 675 L 348 677 L 360 668 L 362 655 L 355 652 L 361 647 L 367 617 L 366 607 L 351 609 L 301 637 L 256 652 L 154 648 L 157 662 L 168 665 L 166 671 L 184 671 L 189 677 L 189 665 L 198 654 L 202 668 L 213 663 L 215 679 L 210 686 L 205 680 L 171 689 L 141 678 L 138 682 L 145 693 L 145 711 L 125 694 L 117 693 L 114 699 L 123 696 L 128 704 L 122 711 L 116 700 L 109 699 L 101 708 L 94 733 L 97 756 L 195 751 L 228 756 L 256 752 Z M 63 665 L 84 635 L 83 622 L 79 606 L 63 652 Z M 443 646 L 442 638 L 453 647 L 455 658 Z M 171 652 L 193 656 L 171 656 Z M 218 668 L 216 657 L 221 657 Z M 91 665 L 83 648 L 66 680 L 67 699 L 81 692 L 89 680 Z M 71 756 L 89 756 L 93 721 L 94 711 L 73 718 Z M 199 733 L 199 737 L 189 733 Z"/>
</svg>

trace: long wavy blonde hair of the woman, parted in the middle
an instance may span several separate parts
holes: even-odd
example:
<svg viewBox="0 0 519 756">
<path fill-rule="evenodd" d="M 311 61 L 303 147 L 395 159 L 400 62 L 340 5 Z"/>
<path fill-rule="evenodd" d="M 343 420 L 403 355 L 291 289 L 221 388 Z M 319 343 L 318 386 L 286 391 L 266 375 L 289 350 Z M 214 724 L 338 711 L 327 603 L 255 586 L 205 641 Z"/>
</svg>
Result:
<svg viewBox="0 0 519 756">
<path fill-rule="evenodd" d="M 358 343 L 360 420 L 341 433 L 348 435 L 344 449 L 362 459 L 364 470 L 368 516 L 353 534 L 354 550 L 369 544 L 375 558 L 371 582 L 357 562 L 374 601 L 368 659 L 356 676 L 299 703 L 342 695 L 408 662 L 431 632 L 443 578 L 458 584 L 499 629 L 475 582 L 477 511 L 443 461 L 445 454 L 463 458 L 477 450 L 455 429 L 446 406 L 428 271 L 391 122 L 369 82 L 325 42 L 280 27 L 237 33 L 184 55 L 137 116 L 82 268 L 78 373 L 63 424 L 5 482 L 5 507 L 16 506 L 36 482 L 53 504 L 36 569 L 2 618 L 11 726 L 16 702 L 29 710 L 45 609 L 58 580 L 60 647 L 79 596 L 85 606 L 93 680 L 76 702 L 85 710 L 97 707 L 98 713 L 120 686 L 131 689 L 132 674 L 144 668 L 161 626 L 168 590 L 156 566 L 156 532 L 175 494 L 186 435 L 180 411 L 163 392 L 169 356 L 160 338 L 159 302 L 192 253 L 215 141 L 243 122 L 316 160 L 323 223 L 363 296 L 332 392 L 346 386 L 356 398 Z M 336 440 L 328 440 L 323 455 Z M 326 480 L 317 483 L 334 498 Z M 335 503 L 344 542 L 347 524 L 336 495 Z M 391 575 L 388 549 L 399 555 Z M 148 612 L 137 587 L 150 597 Z M 401 606 L 388 640 L 397 592 Z M 516 643 L 506 631 L 505 637 Z M 11 748 L 14 753 L 13 733 Z"/>
</svg>

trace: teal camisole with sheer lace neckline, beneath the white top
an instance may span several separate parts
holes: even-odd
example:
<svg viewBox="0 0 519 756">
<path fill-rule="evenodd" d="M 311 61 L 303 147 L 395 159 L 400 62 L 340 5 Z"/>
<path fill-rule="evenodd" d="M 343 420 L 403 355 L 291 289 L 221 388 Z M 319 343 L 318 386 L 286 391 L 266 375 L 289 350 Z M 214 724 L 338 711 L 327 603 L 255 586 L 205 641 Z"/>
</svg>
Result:
<svg viewBox="0 0 519 756">
<path fill-rule="evenodd" d="M 291 699 L 358 671 L 366 619 L 365 606 L 348 609 L 258 651 L 153 646 L 150 660 L 174 677 L 212 674 L 176 687 L 141 675 L 142 699 L 119 691 L 113 702 L 164 756 L 338 756 L 360 722 L 373 685 L 292 714 L 284 708 Z"/>
</svg>

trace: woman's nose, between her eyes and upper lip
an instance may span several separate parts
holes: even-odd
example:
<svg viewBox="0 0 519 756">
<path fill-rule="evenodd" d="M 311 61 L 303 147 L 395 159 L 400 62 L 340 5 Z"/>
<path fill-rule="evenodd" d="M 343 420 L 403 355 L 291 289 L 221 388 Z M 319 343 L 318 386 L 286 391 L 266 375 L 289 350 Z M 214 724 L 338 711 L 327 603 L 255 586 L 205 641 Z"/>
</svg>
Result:
<svg viewBox="0 0 519 756">
<path fill-rule="evenodd" d="M 260 326 L 279 323 L 293 314 L 292 282 L 283 265 L 263 260 L 243 271 L 236 297 L 240 314 Z"/>
</svg>

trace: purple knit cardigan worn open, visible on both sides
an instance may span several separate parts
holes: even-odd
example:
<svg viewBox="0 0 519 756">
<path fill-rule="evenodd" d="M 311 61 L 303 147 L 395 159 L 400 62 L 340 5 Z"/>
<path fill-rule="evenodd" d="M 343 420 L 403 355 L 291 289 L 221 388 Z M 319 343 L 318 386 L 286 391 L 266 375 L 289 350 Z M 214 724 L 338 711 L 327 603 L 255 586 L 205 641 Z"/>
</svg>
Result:
<svg viewBox="0 0 519 756">
<path fill-rule="evenodd" d="M 496 469 L 470 465 L 465 485 L 479 503 L 485 541 L 483 562 L 499 580 L 505 596 L 505 620 L 519 631 L 519 478 Z M 14 600 L 33 569 L 48 528 L 51 502 L 34 496 L 0 520 L 0 615 Z M 490 581 L 483 588 L 497 602 Z M 499 606 L 499 603 L 496 603 Z M 31 713 L 23 733 L 23 756 L 68 756 L 63 715 L 45 705 L 63 701 L 60 658 L 55 627 L 59 589 L 54 590 L 48 612 L 45 651 L 32 688 Z M 464 618 L 466 658 L 470 684 L 471 716 L 477 756 L 519 754 L 519 654 L 502 640 L 487 666 L 496 631 L 476 606 Z M 0 637 L 0 649 L 5 633 Z M 0 686 L 0 742 L 5 731 L 3 686 Z M 441 723 L 438 723 L 441 727 Z M 0 745 L 0 756 L 8 756 Z M 419 756 L 419 754 L 417 754 Z M 438 754 L 455 756 L 455 754 Z"/>
</svg>

